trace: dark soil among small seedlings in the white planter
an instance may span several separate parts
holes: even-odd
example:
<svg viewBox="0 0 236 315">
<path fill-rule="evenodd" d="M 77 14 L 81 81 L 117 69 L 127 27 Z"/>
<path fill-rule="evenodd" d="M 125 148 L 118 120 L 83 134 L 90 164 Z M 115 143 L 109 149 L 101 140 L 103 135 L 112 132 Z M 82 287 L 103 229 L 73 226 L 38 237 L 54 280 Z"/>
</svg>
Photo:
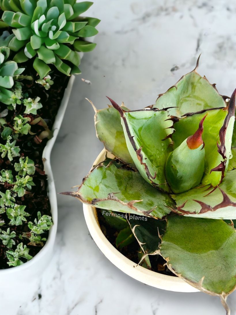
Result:
<svg viewBox="0 0 236 315">
<path fill-rule="evenodd" d="M 25 71 L 22 75 L 32 76 L 33 80 L 29 81 L 24 79 L 21 81 L 24 85 L 22 88 L 22 92 L 27 93 L 28 97 L 35 99 L 36 97 L 40 97 L 40 103 L 42 103 L 42 108 L 37 110 L 37 115 L 25 115 L 24 105 L 16 105 L 16 111 L 8 110 L 8 115 L 5 117 L 8 124 L 5 126 L 11 127 L 13 125 L 13 119 L 15 115 L 21 114 L 22 116 L 28 116 L 31 120 L 34 120 L 37 117 L 42 117 L 44 121 L 47 123 L 48 128 L 51 130 L 53 127 L 53 123 L 55 120 L 55 116 L 58 112 L 61 100 L 64 95 L 65 88 L 68 84 L 69 77 L 65 76 L 61 72 L 59 72 L 55 67 L 52 66 L 52 72 L 49 73 L 54 84 L 47 91 L 45 88 L 36 83 L 36 80 L 39 79 L 36 71 L 33 69 L 31 60 L 25 62 L 24 64 L 20 64 L 19 67 L 25 67 Z M 2 112 L 6 109 L 7 106 L 0 102 L 0 111 Z M 1 129 L 2 131 L 3 129 Z M 47 144 L 48 139 L 43 139 L 42 141 L 37 139 L 37 136 L 45 130 L 41 125 L 31 125 L 31 132 L 35 135 L 23 135 L 19 136 L 16 145 L 20 147 L 20 156 L 28 156 L 31 160 L 34 161 L 36 171 L 34 175 L 30 175 L 33 177 L 33 182 L 35 186 L 32 186 L 31 191 L 28 191 L 24 197 L 19 198 L 15 197 L 16 204 L 25 205 L 25 211 L 30 214 L 27 217 L 27 221 L 33 222 L 35 218 L 37 218 L 37 212 L 40 211 L 42 215 L 51 215 L 51 208 L 48 199 L 47 193 L 47 176 L 44 173 L 43 161 L 42 161 L 42 152 L 44 147 Z M 1 143 L 5 143 L 0 137 Z M 0 169 L 11 169 L 13 176 L 17 175 L 17 172 L 14 170 L 14 163 L 19 162 L 19 157 L 14 157 L 13 161 L 10 162 L 7 157 L 0 157 Z M 5 185 L 0 186 L 1 192 L 5 192 L 7 189 L 10 189 L 12 185 L 5 183 Z M 6 213 L 0 214 L 0 220 L 4 220 L 8 223 L 10 220 L 8 219 Z M 7 226 L 10 228 L 10 232 L 15 231 L 16 235 L 22 234 L 23 232 L 29 232 L 27 222 L 23 222 L 22 225 L 19 226 Z M 5 229 L 5 225 L 3 226 Z M 41 234 L 42 238 L 48 238 L 48 232 Z M 14 238 L 16 244 L 13 246 L 13 250 L 16 248 L 18 243 L 23 242 L 23 245 L 27 245 L 30 249 L 29 254 L 31 256 L 35 256 L 42 246 L 32 246 L 28 245 L 29 240 L 27 238 L 23 238 L 22 240 L 18 237 Z M 43 242 L 45 243 L 45 242 Z M 5 255 L 6 250 L 8 250 L 2 242 L 0 242 L 0 269 L 9 268 L 7 264 L 7 258 Z M 24 258 L 22 258 L 22 261 Z"/>
</svg>

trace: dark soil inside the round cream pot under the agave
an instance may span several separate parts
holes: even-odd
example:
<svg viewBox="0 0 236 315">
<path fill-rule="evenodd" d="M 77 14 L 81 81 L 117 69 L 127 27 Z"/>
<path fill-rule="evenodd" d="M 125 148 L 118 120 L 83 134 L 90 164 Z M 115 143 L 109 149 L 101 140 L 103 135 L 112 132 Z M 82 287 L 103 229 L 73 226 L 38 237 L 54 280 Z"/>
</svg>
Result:
<svg viewBox="0 0 236 315">
<path fill-rule="evenodd" d="M 97 209 L 97 215 L 98 215 L 98 222 L 100 225 L 100 228 L 105 235 L 105 237 L 109 240 L 109 242 L 116 248 L 115 240 L 119 233 L 116 229 L 111 227 L 107 221 L 104 219 L 104 216 L 102 215 L 102 210 Z M 117 249 L 117 248 L 116 248 Z M 128 259 L 133 261 L 135 264 L 139 263 L 138 259 L 138 252 L 140 251 L 140 246 L 138 244 L 138 241 L 135 239 L 131 244 L 123 247 L 122 249 L 117 249 L 119 252 L 126 256 Z M 155 272 L 159 272 L 168 276 L 174 276 L 167 266 L 164 266 L 166 263 L 165 259 L 162 258 L 160 255 L 149 255 L 149 260 L 151 263 L 151 270 Z"/>
</svg>

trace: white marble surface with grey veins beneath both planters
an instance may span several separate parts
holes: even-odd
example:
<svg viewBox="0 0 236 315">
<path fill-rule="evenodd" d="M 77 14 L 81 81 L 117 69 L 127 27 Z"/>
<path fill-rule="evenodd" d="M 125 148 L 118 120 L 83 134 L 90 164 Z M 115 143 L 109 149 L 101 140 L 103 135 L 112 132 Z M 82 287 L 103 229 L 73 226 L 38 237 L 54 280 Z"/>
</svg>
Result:
<svg viewBox="0 0 236 315">
<path fill-rule="evenodd" d="M 85 97 L 98 108 L 106 106 L 105 95 L 143 108 L 192 70 L 200 53 L 199 73 L 217 83 L 221 94 L 231 95 L 236 87 L 234 1 L 95 0 L 89 13 L 102 22 L 97 48 L 82 60 L 52 152 L 58 192 L 80 184 L 102 149 Z M 53 260 L 25 283 L 15 279 L 8 289 L 0 286 L 1 314 L 224 314 L 216 297 L 163 291 L 129 278 L 91 239 L 82 204 L 61 195 L 58 204 Z M 228 304 L 235 315 L 236 292 Z"/>
</svg>

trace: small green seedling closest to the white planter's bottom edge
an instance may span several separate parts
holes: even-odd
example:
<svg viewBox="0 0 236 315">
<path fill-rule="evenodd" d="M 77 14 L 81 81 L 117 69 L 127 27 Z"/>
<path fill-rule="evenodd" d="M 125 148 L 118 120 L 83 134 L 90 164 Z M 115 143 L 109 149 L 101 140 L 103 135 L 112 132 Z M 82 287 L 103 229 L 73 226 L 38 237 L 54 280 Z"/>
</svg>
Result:
<svg viewBox="0 0 236 315">
<path fill-rule="evenodd" d="M 14 267 L 20 266 L 25 261 L 28 261 L 31 258 L 33 258 L 31 255 L 29 255 L 29 249 L 26 247 L 26 245 L 23 246 L 23 243 L 18 244 L 17 248 L 14 251 L 7 250 L 6 256 L 8 259 L 8 265 Z"/>
</svg>

